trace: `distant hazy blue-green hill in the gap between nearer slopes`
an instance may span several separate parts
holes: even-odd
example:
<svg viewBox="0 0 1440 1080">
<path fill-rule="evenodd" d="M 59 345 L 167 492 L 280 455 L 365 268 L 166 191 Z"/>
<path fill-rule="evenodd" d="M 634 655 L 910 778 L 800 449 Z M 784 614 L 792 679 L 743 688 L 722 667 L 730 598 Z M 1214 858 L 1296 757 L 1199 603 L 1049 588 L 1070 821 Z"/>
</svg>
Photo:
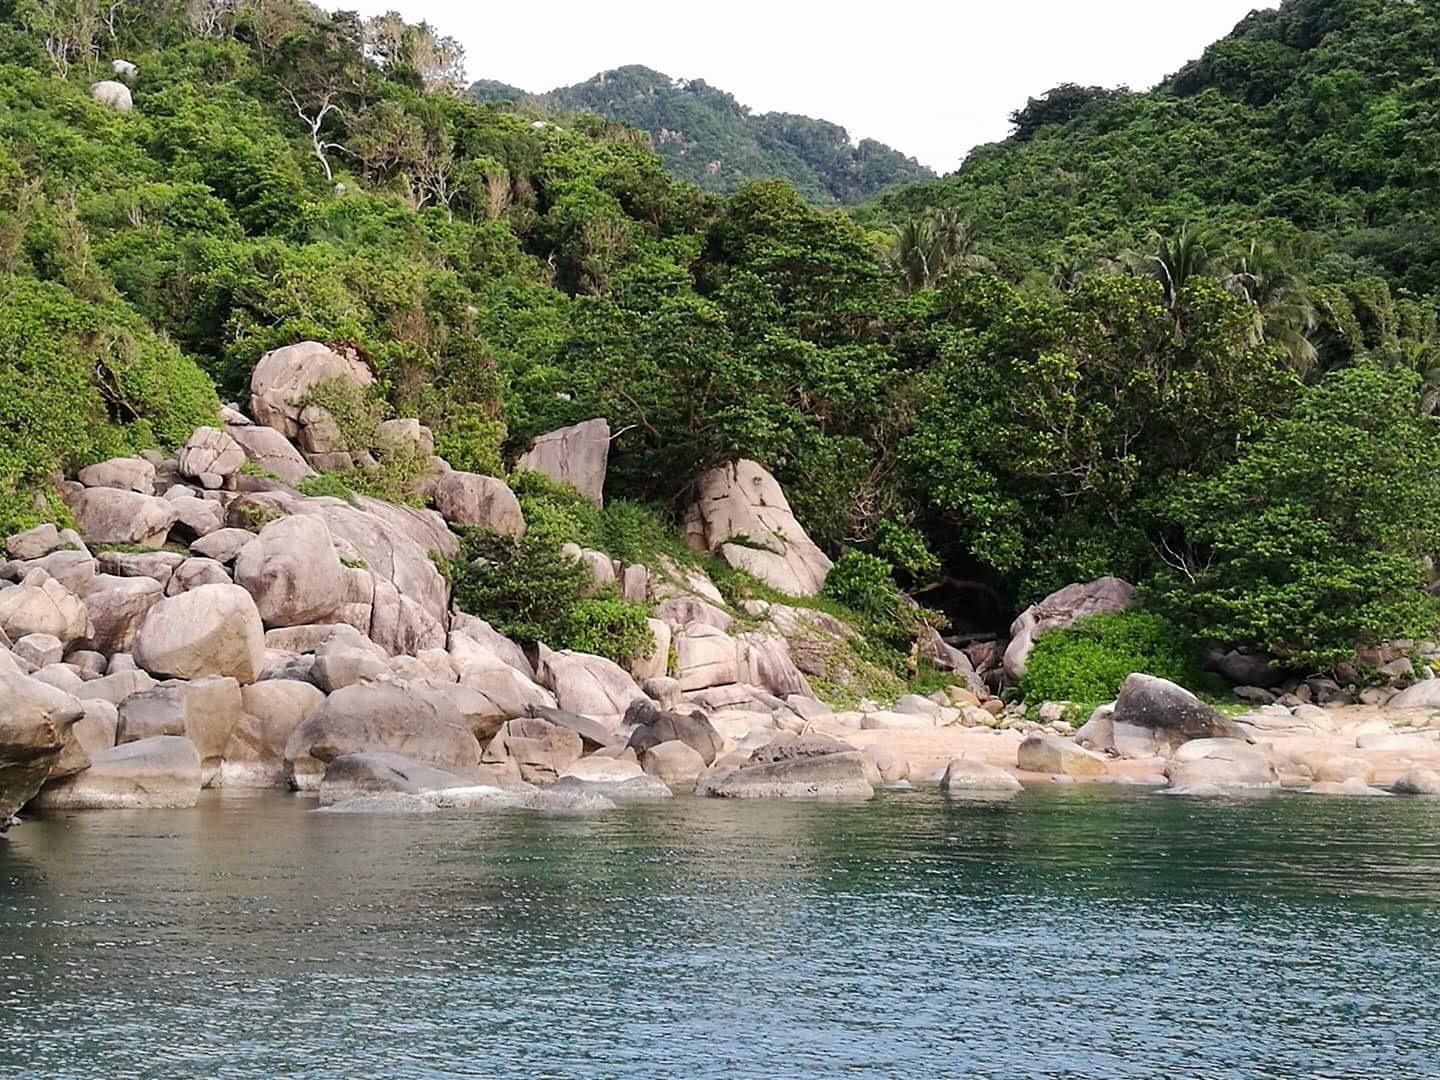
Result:
<svg viewBox="0 0 1440 1080">
<path fill-rule="evenodd" d="M 788 112 L 750 112 L 703 79 L 672 79 L 642 66 L 618 68 L 573 86 L 526 95 L 481 81 L 480 101 L 521 101 L 547 112 L 595 112 L 648 131 L 665 167 L 707 192 L 780 177 L 811 203 L 855 204 L 886 187 L 933 173 L 873 138 L 852 145 L 838 124 Z"/>
</svg>

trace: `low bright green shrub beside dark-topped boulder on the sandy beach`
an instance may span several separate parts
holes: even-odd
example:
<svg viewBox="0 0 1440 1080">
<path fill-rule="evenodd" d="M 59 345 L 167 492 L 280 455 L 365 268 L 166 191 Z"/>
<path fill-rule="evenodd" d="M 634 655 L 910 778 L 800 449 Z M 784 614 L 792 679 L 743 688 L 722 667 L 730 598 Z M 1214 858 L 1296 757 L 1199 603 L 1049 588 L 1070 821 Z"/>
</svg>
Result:
<svg viewBox="0 0 1440 1080">
<path fill-rule="evenodd" d="M 1135 671 L 1197 693 L 1212 683 L 1184 629 L 1161 615 L 1129 611 L 1090 615 L 1043 634 L 1025 662 L 1020 688 L 1027 701 L 1096 706 L 1113 700 L 1125 677 Z"/>
</svg>

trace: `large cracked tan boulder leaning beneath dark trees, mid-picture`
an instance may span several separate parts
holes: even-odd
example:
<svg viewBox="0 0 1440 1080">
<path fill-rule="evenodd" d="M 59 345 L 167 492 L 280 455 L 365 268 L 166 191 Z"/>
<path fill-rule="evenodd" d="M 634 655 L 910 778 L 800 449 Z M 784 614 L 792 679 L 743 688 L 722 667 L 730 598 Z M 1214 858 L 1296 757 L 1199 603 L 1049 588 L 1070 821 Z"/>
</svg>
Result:
<svg viewBox="0 0 1440 1080">
<path fill-rule="evenodd" d="M 791 596 L 814 596 L 831 560 L 795 520 L 785 492 L 765 468 L 734 461 L 696 482 L 685 541 Z"/>
</svg>

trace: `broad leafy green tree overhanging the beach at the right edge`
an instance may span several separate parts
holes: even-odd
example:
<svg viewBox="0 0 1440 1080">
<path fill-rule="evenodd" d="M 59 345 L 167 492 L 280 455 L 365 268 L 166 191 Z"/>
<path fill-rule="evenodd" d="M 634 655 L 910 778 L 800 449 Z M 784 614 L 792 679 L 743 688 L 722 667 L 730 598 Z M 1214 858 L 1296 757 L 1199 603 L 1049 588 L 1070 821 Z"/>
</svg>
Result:
<svg viewBox="0 0 1440 1080">
<path fill-rule="evenodd" d="M 1156 602 L 1202 638 L 1329 665 L 1436 624 L 1440 428 L 1418 376 L 1328 374 L 1230 465 L 1165 500 Z"/>
</svg>

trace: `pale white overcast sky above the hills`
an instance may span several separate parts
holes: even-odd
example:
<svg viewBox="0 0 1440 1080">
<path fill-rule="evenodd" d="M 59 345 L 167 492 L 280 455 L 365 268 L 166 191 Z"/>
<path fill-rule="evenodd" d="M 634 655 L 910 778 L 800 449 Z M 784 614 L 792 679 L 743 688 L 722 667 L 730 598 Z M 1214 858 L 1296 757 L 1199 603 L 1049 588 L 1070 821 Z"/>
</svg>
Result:
<svg viewBox="0 0 1440 1080">
<path fill-rule="evenodd" d="M 330 0 L 334 3 L 334 0 Z M 1152 86 L 1266 0 L 361 0 L 465 45 L 471 79 L 540 92 L 644 63 L 802 112 L 942 173 L 1060 82 Z"/>
</svg>

